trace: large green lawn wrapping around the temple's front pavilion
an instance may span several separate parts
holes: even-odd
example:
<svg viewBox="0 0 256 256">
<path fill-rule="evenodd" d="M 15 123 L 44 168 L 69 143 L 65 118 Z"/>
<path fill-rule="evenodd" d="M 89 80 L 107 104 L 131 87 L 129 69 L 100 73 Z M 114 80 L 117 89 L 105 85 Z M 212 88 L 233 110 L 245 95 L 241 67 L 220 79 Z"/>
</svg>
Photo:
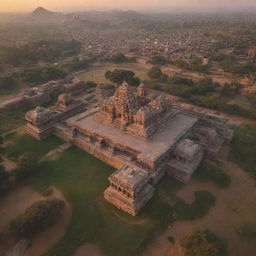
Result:
<svg viewBox="0 0 256 256">
<path fill-rule="evenodd" d="M 156 187 L 151 201 L 137 217 L 132 217 L 103 198 L 107 179 L 113 171 L 112 167 L 75 147 L 61 153 L 57 160 L 40 163 L 32 184 L 42 192 L 51 185 L 56 186 L 71 203 L 73 211 L 63 239 L 47 253 L 48 256 L 72 255 L 84 242 L 96 244 L 110 256 L 141 255 L 145 245 L 175 221 L 177 211 L 172 198 L 183 186 L 180 182 L 165 177 Z M 181 205 L 179 201 L 177 207 L 182 214 L 183 207 L 200 212 L 204 204 L 200 200 L 197 198 L 196 204 L 191 205 L 185 202 Z M 203 207 L 203 215 L 209 207 L 209 204 Z"/>
</svg>

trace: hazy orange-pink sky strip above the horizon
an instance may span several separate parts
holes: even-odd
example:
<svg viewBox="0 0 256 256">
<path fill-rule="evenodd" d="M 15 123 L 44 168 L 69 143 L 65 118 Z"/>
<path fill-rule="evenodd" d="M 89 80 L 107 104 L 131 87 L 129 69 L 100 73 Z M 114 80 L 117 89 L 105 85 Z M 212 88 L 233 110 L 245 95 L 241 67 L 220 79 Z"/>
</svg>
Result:
<svg viewBox="0 0 256 256">
<path fill-rule="evenodd" d="M 256 7 L 256 0 L 0 0 L 0 11 Z M 167 9 L 166 9 L 167 8 Z"/>
</svg>

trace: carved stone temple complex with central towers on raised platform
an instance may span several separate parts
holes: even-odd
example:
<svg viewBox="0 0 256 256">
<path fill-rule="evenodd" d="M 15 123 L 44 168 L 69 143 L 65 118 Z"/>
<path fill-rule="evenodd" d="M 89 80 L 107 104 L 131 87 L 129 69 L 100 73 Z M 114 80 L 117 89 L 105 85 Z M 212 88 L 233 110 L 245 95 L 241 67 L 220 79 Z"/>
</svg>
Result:
<svg viewBox="0 0 256 256">
<path fill-rule="evenodd" d="M 60 95 L 51 109 L 26 114 L 26 132 L 41 140 L 55 135 L 117 168 L 104 198 L 136 215 L 168 174 L 188 182 L 204 156 L 215 155 L 232 131 L 221 117 L 173 106 L 143 84 L 126 82 L 109 93 L 97 88 L 97 106 Z"/>
</svg>

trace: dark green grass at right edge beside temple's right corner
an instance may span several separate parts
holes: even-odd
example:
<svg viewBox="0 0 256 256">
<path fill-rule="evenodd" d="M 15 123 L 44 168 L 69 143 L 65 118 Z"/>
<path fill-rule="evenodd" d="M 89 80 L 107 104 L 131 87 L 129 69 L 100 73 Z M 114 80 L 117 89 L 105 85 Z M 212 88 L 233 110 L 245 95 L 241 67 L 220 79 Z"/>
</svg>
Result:
<svg viewBox="0 0 256 256">
<path fill-rule="evenodd" d="M 234 138 L 230 145 L 229 159 L 256 179 L 256 127 L 232 127 Z"/>
</svg>

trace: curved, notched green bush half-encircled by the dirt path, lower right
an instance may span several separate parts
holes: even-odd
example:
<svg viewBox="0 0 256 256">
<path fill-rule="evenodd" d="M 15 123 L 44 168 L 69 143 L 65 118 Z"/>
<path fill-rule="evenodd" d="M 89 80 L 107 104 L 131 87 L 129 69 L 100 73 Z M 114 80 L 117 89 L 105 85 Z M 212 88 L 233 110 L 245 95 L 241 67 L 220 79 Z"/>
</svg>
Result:
<svg viewBox="0 0 256 256">
<path fill-rule="evenodd" d="M 205 216 L 215 204 L 215 197 L 208 191 L 196 191 L 195 201 L 187 204 L 183 199 L 176 198 L 174 212 L 178 219 L 194 220 Z"/>
</svg>

